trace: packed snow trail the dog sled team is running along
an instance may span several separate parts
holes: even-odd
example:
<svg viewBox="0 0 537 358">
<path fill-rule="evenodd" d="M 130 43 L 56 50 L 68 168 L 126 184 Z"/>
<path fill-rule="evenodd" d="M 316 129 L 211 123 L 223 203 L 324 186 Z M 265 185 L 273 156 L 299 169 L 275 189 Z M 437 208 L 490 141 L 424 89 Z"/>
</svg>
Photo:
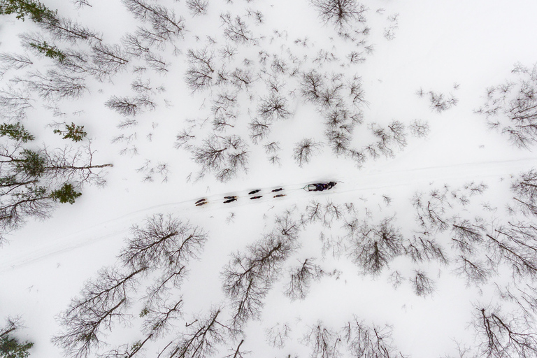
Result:
<svg viewBox="0 0 537 358">
<path fill-rule="evenodd" d="M 22 253 L 9 253 L 3 250 L 0 256 L 0 273 L 12 271 L 16 268 L 40 262 L 55 255 L 60 255 L 71 250 L 83 248 L 106 238 L 124 236 L 129 231 L 134 219 L 142 218 L 151 213 L 157 213 L 157 210 L 166 209 L 175 212 L 199 210 L 200 212 L 210 212 L 218 208 L 234 208 L 237 206 L 255 205 L 259 202 L 275 201 L 299 201 L 299 199 L 313 198 L 315 196 L 338 196 L 345 200 L 355 199 L 359 192 L 371 191 L 372 189 L 385 189 L 401 186 L 419 186 L 427 185 L 429 182 L 444 183 L 450 179 L 480 181 L 486 178 L 503 177 L 511 174 L 517 174 L 520 171 L 527 171 L 537 165 L 535 158 L 524 158 L 517 160 L 504 160 L 494 162 L 478 162 L 466 164 L 453 164 L 446 166 L 429 166 L 426 168 L 404 169 L 404 170 L 384 170 L 392 164 L 386 164 L 384 168 L 364 171 L 359 173 L 356 178 L 332 178 L 338 182 L 338 185 L 326 192 L 306 192 L 303 187 L 317 182 L 296 183 L 293 185 L 282 186 L 280 192 L 271 192 L 278 187 L 261 189 L 259 193 L 248 195 L 253 189 L 243 192 L 229 192 L 224 194 L 213 194 L 204 196 L 208 203 L 196 207 L 195 202 L 201 198 L 189 199 L 185 201 L 176 201 L 164 203 L 157 206 L 150 206 L 131 213 L 121 215 L 114 219 L 94 224 L 91 227 L 61 236 L 53 241 L 45 241 L 41 245 L 34 245 L 31 250 Z M 461 173 L 464 175 L 461 176 Z M 337 176 L 336 176 L 337 177 Z M 418 189 L 418 188 L 416 188 Z M 273 198 L 276 194 L 286 194 L 280 198 Z M 224 196 L 238 196 L 238 200 L 231 203 L 223 203 Z M 261 199 L 250 200 L 249 197 L 262 195 Z"/>
</svg>

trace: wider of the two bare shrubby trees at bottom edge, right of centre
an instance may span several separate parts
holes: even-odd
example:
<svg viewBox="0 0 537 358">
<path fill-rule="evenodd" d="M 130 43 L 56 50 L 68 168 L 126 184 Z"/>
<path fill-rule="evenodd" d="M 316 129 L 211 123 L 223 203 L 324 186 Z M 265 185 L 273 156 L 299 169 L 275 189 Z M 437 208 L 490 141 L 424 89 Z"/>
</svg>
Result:
<svg viewBox="0 0 537 358">
<path fill-rule="evenodd" d="M 369 327 L 354 316 L 343 327 L 343 334 L 344 342 L 347 344 L 351 357 L 396 357 L 392 341 L 392 327 L 388 325 Z"/>
</svg>

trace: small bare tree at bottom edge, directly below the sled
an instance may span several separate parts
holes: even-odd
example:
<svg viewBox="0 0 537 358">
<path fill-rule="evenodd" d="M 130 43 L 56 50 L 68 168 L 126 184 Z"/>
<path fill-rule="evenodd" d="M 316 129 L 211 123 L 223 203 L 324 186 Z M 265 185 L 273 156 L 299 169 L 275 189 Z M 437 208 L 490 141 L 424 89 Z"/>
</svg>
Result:
<svg viewBox="0 0 537 358">
<path fill-rule="evenodd" d="M 323 322 L 317 321 L 309 334 L 303 338 L 311 348 L 311 358 L 336 358 L 340 357 L 339 344 L 341 338 L 336 332 L 324 326 Z"/>
</svg>

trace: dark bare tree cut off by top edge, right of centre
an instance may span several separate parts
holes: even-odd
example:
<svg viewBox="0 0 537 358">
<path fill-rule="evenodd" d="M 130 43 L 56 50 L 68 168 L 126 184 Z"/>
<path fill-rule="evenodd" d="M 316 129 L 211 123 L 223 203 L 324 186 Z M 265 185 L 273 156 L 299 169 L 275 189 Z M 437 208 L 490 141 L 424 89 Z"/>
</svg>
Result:
<svg viewBox="0 0 537 358">
<path fill-rule="evenodd" d="M 365 22 L 366 7 L 357 0 L 311 0 L 324 22 L 334 22 L 338 29 Z"/>
</svg>

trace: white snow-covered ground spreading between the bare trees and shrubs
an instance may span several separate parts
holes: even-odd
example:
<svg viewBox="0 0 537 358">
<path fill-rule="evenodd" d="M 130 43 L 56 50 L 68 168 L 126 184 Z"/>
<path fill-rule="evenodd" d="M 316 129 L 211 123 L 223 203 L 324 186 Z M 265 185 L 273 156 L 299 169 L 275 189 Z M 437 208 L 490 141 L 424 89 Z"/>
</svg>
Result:
<svg viewBox="0 0 537 358">
<path fill-rule="evenodd" d="M 71 3 L 43 2 L 49 8 L 57 8 L 59 15 L 101 31 L 106 43 L 119 43 L 124 34 L 134 32 L 138 26 L 138 20 L 120 1 L 90 1 L 92 7 L 80 10 Z M 175 324 L 175 331 L 180 332 L 185 323 L 192 322 L 193 314 L 206 312 L 226 300 L 220 273 L 231 253 L 245 252 L 247 245 L 271 230 L 275 215 L 282 215 L 285 210 L 290 210 L 292 217 L 299 220 L 312 200 L 323 204 L 333 202 L 341 208 L 345 203 L 353 203 L 359 220 L 369 218 L 378 222 L 396 215 L 396 226 L 401 228 L 403 236 L 410 238 L 417 227 L 415 210 L 410 203 L 415 192 L 427 193 L 443 185 L 449 185 L 451 190 L 468 182 L 483 182 L 489 188 L 457 215 L 472 217 L 487 213 L 489 217 L 484 217 L 485 221 L 501 220 L 510 200 L 513 176 L 532 169 L 537 163 L 534 152 L 514 148 L 504 136 L 487 129 L 484 115 L 475 113 L 486 101 L 487 87 L 513 78 L 510 72 L 515 63 L 533 66 L 536 62 L 537 3 L 522 0 L 368 1 L 365 15 L 371 34 L 365 38 L 374 45 L 374 51 L 366 55 L 364 62 L 344 66 L 341 63 L 345 62 L 345 55 L 359 45 L 339 38 L 334 27 L 323 24 L 306 0 L 210 1 L 208 14 L 199 17 L 189 15 L 184 1 L 159 3 L 176 9 L 177 14 L 185 17 L 184 38 L 178 38 L 160 51 L 169 63 L 169 71 L 159 74 L 148 70 L 135 74 L 129 68 L 111 80 L 90 79 L 89 92 L 83 99 L 57 103 L 66 113 L 62 120 L 85 126 L 92 138 L 92 148 L 97 150 L 96 162 L 114 164 L 106 175 L 106 186 L 85 187 L 83 196 L 72 206 L 59 206 L 48 220 L 29 220 L 22 229 L 10 234 L 9 242 L 0 248 L 0 317 L 22 315 L 27 328 L 20 336 L 36 343 L 31 357 L 62 354 L 50 341 L 61 329 L 57 315 L 79 294 L 86 280 L 96 277 L 101 267 L 116 264 L 116 257 L 129 238 L 129 228 L 143 224 L 149 215 L 172 213 L 208 231 L 203 252 L 198 260 L 189 262 L 188 278 L 178 290 L 185 312 Z M 252 18 L 243 15 L 248 8 L 261 11 L 264 23 L 255 25 Z M 377 11 L 381 8 L 385 10 Z M 316 68 L 327 73 L 341 71 L 348 78 L 361 77 L 367 103 L 360 107 L 364 124 L 355 129 L 352 145 L 360 147 L 371 141 L 373 136 L 368 126 L 373 122 L 385 126 L 392 120 L 399 120 L 408 126 L 413 120 L 423 120 L 429 124 L 429 134 L 424 138 L 408 135 L 408 145 L 397 149 L 393 157 L 368 159 L 358 168 L 352 159 L 333 154 L 324 136 L 318 108 L 303 101 L 298 88 L 296 93 L 289 94 L 293 86 L 298 87 L 297 76 L 284 77 L 288 83 L 285 93 L 291 115 L 287 120 L 275 122 L 268 138 L 254 144 L 249 139 L 248 122 L 255 117 L 258 96 L 266 94 L 264 83 L 257 80 L 248 91 L 238 94 L 237 108 L 241 112 L 235 127 L 227 132 L 241 135 L 249 143 L 248 171 L 239 172 L 228 182 L 217 181 L 212 173 L 196 180 L 199 166 L 192 162 L 192 155 L 185 148 L 174 148 L 174 142 L 176 135 L 191 125 L 187 120 L 195 120 L 197 126 L 209 117 L 210 101 L 219 90 L 215 85 L 210 90 L 192 94 L 185 85 L 186 53 L 188 49 L 207 45 L 206 36 L 213 36 L 215 49 L 226 42 L 219 15 L 228 10 L 248 19 L 258 38 L 257 43 L 237 45 L 234 60 L 235 64 L 240 64 L 243 58 L 252 59 L 254 78 L 257 78 L 256 71 L 262 68 L 258 63 L 262 50 L 282 57 L 289 52 L 296 54 L 298 71 Z M 29 20 L 20 22 L 13 15 L 0 17 L 0 52 L 22 51 L 16 35 L 36 29 Z M 275 29 L 285 35 L 276 36 Z M 392 31 L 393 38 L 384 36 L 385 31 Z M 307 38 L 308 47 L 297 43 L 297 38 Z M 177 48 L 176 54 L 173 46 Z M 322 49 L 335 54 L 338 60 L 313 63 L 313 57 Z M 51 66 L 52 62 L 46 60 L 41 59 L 36 66 L 42 69 Z M 135 60 L 139 59 L 133 62 Z M 1 84 L 8 85 L 11 76 L 12 72 L 6 72 L 0 79 Z M 136 126 L 118 129 L 117 124 L 125 118 L 106 108 L 104 103 L 113 95 L 131 95 L 130 83 L 136 78 L 150 80 L 154 88 L 163 85 L 166 91 L 154 90 L 150 94 L 157 108 L 138 115 Z M 436 113 L 429 107 L 427 95 L 417 96 L 420 88 L 424 92 L 452 94 L 459 101 L 456 106 Z M 73 115 L 76 110 L 83 110 L 83 113 Z M 37 141 L 62 145 L 59 138 L 52 137 L 50 129 L 45 128 L 54 120 L 57 119 L 51 110 L 36 106 L 24 126 L 36 133 Z M 195 130 L 199 134 L 197 138 L 204 138 L 211 131 L 210 120 Z M 112 143 L 113 138 L 122 135 L 136 138 L 131 142 Z M 324 145 L 320 154 L 300 167 L 292 154 L 295 143 L 303 138 L 314 138 Z M 263 145 L 270 141 L 280 143 L 279 165 L 269 163 L 264 152 Z M 201 141 L 195 145 L 199 143 Z M 129 152 L 133 146 L 136 146 L 136 155 Z M 122 155 L 123 149 L 127 152 Z M 169 168 L 166 181 L 159 173 L 152 174 L 152 181 L 143 180 L 145 174 L 136 169 L 148 160 L 150 166 L 166 164 Z M 310 182 L 328 180 L 338 182 L 329 192 L 312 193 L 302 189 Z M 282 192 L 286 196 L 272 198 L 270 190 L 278 187 L 285 188 Z M 264 198 L 248 199 L 245 193 L 252 189 L 262 189 Z M 222 203 L 223 196 L 235 194 L 241 196 L 238 201 Z M 391 202 L 387 203 L 382 196 L 389 197 Z M 194 206 L 194 202 L 203 197 L 210 203 Z M 482 210 L 485 202 L 496 211 Z M 434 293 L 417 296 L 409 282 L 399 287 L 389 282 L 390 274 L 396 270 L 405 278 L 412 275 L 416 266 L 405 257 L 394 259 L 378 277 L 361 275 L 345 252 L 322 259 L 320 231 L 336 237 L 344 234 L 342 226 L 343 222 L 335 222 L 331 227 L 317 223 L 301 231 L 301 248 L 286 265 L 296 266 L 300 260 L 317 257 L 324 271 L 336 270 L 337 273 L 313 282 L 303 301 L 290 301 L 282 294 L 287 282 L 285 266 L 266 296 L 260 320 L 252 320 L 245 327 L 242 348 L 251 351 L 250 357 L 293 357 L 295 354 L 308 357 L 310 348 L 303 341 L 308 327 L 314 327 L 321 320 L 337 331 L 352 315 L 367 324 L 391 325 L 397 351 L 415 358 L 455 355 L 454 341 L 470 347 L 475 344 L 469 326 L 473 304 L 497 302 L 492 283 L 480 288 L 467 286 L 464 279 L 452 273 L 452 268 L 433 262 L 420 268 L 435 280 Z M 138 327 L 140 319 L 136 310 L 139 308 L 141 303 L 132 303 L 131 313 L 136 316 L 133 323 L 127 327 L 116 323 L 113 332 L 106 333 L 108 337 L 104 341 L 120 345 L 143 339 Z M 266 329 L 275 324 L 292 328 L 285 348 L 272 348 L 266 343 Z M 157 341 L 145 351 L 145 356 L 156 357 L 157 349 L 164 348 L 175 336 L 171 334 L 170 338 Z M 227 348 L 232 348 L 231 344 L 224 345 L 215 357 L 228 355 Z"/>
</svg>

